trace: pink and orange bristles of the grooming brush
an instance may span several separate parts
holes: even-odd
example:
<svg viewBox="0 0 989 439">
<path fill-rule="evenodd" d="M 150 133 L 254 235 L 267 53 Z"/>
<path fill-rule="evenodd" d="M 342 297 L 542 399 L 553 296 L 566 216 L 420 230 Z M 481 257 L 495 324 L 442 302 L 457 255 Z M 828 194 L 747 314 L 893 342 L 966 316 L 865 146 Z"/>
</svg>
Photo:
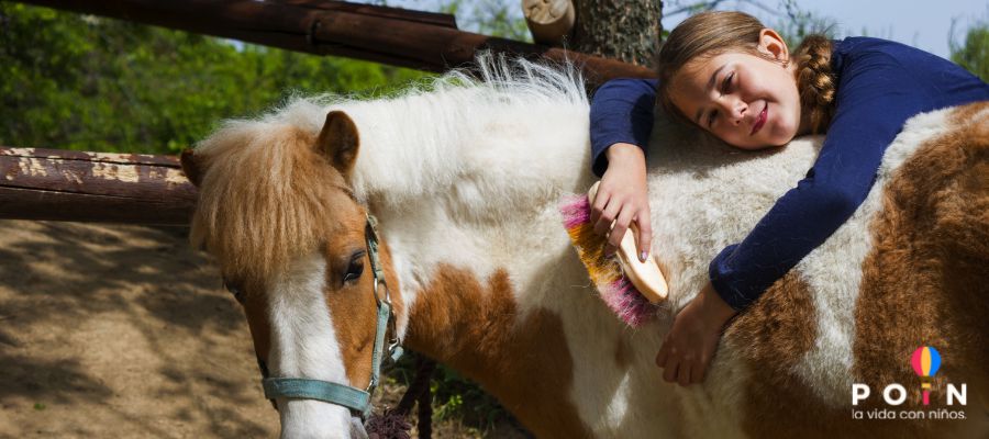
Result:
<svg viewBox="0 0 989 439">
<path fill-rule="evenodd" d="M 601 300 L 625 324 L 638 327 L 656 317 L 657 306 L 649 303 L 622 274 L 621 266 L 604 257 L 604 237 L 590 224 L 587 195 L 567 195 L 559 204 L 563 224 L 577 249 L 577 256 L 598 289 Z"/>
</svg>

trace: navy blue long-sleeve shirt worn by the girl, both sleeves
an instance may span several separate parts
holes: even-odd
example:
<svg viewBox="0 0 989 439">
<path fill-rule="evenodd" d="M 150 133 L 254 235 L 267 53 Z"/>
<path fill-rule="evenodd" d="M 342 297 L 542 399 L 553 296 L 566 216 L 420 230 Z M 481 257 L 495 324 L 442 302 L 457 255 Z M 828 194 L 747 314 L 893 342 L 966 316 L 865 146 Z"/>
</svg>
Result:
<svg viewBox="0 0 989 439">
<path fill-rule="evenodd" d="M 989 100 L 989 85 L 954 63 L 879 38 L 837 41 L 835 113 L 814 166 L 742 243 L 711 261 L 714 290 L 734 309 L 752 304 L 833 234 L 865 201 L 886 148 L 913 115 Z M 644 147 L 653 125 L 656 80 L 616 79 L 593 97 L 592 170 L 608 167 L 615 143 Z"/>
</svg>

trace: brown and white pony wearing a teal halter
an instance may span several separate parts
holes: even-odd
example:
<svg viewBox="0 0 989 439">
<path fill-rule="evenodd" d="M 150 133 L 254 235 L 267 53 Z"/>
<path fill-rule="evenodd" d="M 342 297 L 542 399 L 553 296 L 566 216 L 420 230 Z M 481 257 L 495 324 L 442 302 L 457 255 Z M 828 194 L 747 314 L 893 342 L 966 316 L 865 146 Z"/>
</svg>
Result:
<svg viewBox="0 0 989 439">
<path fill-rule="evenodd" d="M 390 337 L 540 438 L 986 437 L 989 103 L 909 121 L 855 215 L 731 322 L 703 383 L 680 387 L 654 364 L 673 318 L 821 139 L 740 153 L 657 123 L 653 248 L 670 295 L 632 329 L 599 300 L 557 211 L 594 180 L 582 77 L 477 63 L 478 77 L 385 99 L 295 99 L 184 156 L 199 189 L 191 241 L 236 285 L 266 373 L 366 389 L 380 278 Z M 923 346 L 942 356 L 927 406 L 910 367 Z M 282 437 L 366 435 L 344 406 L 275 401 Z M 888 410 L 902 418 L 859 418 Z"/>
</svg>

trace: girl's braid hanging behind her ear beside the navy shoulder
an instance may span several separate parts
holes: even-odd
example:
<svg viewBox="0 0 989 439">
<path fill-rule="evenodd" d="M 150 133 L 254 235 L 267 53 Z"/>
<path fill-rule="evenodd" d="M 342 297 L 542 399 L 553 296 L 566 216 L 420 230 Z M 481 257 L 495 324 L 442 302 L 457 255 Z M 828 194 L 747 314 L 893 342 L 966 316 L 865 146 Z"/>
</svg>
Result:
<svg viewBox="0 0 989 439">
<path fill-rule="evenodd" d="M 821 34 L 808 35 L 797 48 L 797 90 L 812 134 L 827 131 L 834 114 L 837 86 L 831 71 L 831 40 Z"/>
</svg>

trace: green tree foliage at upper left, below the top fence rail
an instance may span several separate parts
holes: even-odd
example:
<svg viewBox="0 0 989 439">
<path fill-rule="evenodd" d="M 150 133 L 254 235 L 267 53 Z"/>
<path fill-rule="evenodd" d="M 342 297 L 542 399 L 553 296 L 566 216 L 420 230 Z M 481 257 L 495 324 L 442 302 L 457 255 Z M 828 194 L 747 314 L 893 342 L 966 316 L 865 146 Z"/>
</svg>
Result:
<svg viewBox="0 0 989 439">
<path fill-rule="evenodd" d="M 425 74 L 0 2 L 0 144 L 176 153 L 292 94 Z"/>
</svg>

